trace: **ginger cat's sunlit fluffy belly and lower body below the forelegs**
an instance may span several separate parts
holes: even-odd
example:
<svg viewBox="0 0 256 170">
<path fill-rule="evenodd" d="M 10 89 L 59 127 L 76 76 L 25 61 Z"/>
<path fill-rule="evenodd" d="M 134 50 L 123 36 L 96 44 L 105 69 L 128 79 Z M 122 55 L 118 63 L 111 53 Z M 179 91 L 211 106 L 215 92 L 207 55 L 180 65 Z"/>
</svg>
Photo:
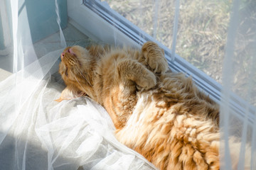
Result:
<svg viewBox="0 0 256 170">
<path fill-rule="evenodd" d="M 117 140 L 159 169 L 219 169 L 220 135 L 212 122 L 182 113 L 179 104 L 164 106 L 142 94 Z"/>
</svg>

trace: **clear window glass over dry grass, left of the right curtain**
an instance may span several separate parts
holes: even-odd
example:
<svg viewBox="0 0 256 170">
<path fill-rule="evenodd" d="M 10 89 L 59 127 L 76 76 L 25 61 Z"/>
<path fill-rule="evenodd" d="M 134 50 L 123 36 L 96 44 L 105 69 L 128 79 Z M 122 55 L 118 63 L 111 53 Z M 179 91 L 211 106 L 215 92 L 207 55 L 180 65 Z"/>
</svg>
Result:
<svg viewBox="0 0 256 170">
<path fill-rule="evenodd" d="M 171 49 L 174 0 L 107 0 L 115 11 Z M 180 1 L 176 53 L 220 82 L 232 1 Z"/>
</svg>

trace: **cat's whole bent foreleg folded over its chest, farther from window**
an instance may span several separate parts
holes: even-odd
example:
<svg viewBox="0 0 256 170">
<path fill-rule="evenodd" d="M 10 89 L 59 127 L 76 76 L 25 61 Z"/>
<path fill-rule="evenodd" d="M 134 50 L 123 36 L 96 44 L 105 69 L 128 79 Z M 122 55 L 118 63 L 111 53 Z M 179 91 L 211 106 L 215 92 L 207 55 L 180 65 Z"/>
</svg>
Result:
<svg viewBox="0 0 256 170">
<path fill-rule="evenodd" d="M 119 79 L 134 81 L 142 89 L 156 86 L 156 76 L 135 60 L 121 60 L 117 63 L 117 72 Z"/>
</svg>

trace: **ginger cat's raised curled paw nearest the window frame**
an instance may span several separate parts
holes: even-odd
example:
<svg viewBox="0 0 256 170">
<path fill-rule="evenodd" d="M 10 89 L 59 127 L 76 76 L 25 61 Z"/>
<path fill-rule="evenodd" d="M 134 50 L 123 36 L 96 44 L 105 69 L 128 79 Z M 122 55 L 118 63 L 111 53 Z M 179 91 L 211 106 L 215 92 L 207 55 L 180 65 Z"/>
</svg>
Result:
<svg viewBox="0 0 256 170">
<path fill-rule="evenodd" d="M 164 57 L 164 50 L 155 42 L 148 41 L 144 43 L 142 46 L 142 54 L 149 64 L 149 67 L 151 67 L 155 73 L 164 73 L 168 70 L 168 63 Z"/>
</svg>

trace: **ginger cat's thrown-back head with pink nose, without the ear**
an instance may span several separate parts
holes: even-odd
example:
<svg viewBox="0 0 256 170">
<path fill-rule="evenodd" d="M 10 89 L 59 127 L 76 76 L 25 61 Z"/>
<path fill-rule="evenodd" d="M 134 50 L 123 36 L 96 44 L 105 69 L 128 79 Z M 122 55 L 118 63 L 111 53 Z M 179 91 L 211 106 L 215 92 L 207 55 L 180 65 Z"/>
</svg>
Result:
<svg viewBox="0 0 256 170">
<path fill-rule="evenodd" d="M 66 47 L 60 58 L 59 73 L 66 85 L 81 84 L 88 80 L 85 74 L 90 66 L 90 54 L 85 48 L 78 45 Z"/>
</svg>

